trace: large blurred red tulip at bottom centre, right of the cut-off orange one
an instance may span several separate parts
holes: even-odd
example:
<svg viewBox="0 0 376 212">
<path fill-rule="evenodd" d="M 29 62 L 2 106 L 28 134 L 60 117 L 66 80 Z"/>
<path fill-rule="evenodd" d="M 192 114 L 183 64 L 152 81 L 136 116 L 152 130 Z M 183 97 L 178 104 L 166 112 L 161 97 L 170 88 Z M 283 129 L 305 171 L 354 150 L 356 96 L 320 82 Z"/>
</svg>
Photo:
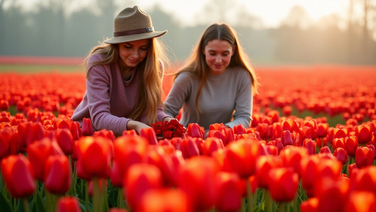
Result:
<svg viewBox="0 0 376 212">
<path fill-rule="evenodd" d="M 206 156 L 189 159 L 178 171 L 178 186 L 188 195 L 194 211 L 208 210 L 215 203 L 214 159 Z"/>
</svg>

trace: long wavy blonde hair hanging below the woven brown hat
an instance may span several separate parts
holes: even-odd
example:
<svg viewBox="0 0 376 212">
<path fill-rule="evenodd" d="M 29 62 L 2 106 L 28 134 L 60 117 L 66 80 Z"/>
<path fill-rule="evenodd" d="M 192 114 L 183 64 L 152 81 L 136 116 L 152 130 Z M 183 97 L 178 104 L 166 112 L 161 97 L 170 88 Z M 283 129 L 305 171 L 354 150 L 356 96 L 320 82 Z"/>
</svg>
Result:
<svg viewBox="0 0 376 212">
<path fill-rule="evenodd" d="M 102 54 L 103 60 L 93 61 L 88 64 L 89 57 L 94 54 Z M 100 42 L 98 46 L 91 49 L 86 56 L 82 66 L 86 70 L 86 78 L 93 66 L 105 65 L 116 62 L 119 57 L 118 44 L 106 44 Z M 151 124 L 158 121 L 158 107 L 162 104 L 162 80 L 164 65 L 170 65 L 167 57 L 167 48 L 162 41 L 151 38 L 150 47 L 146 58 L 137 65 L 139 72 L 138 93 L 135 108 L 127 118 L 135 120 L 143 112 L 146 112 L 146 121 Z"/>
</svg>

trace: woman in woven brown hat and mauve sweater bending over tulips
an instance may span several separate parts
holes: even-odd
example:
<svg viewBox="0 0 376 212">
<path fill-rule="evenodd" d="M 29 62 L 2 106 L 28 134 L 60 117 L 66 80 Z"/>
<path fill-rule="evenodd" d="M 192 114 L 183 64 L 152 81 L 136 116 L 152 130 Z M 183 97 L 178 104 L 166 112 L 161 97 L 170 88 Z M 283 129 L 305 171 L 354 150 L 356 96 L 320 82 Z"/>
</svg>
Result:
<svg viewBox="0 0 376 212">
<path fill-rule="evenodd" d="M 161 91 L 165 46 L 156 38 L 150 16 L 138 6 L 121 11 L 114 37 L 92 48 L 85 58 L 86 92 L 72 119 L 91 118 L 94 131 L 115 135 L 172 118 L 163 112 Z"/>
</svg>

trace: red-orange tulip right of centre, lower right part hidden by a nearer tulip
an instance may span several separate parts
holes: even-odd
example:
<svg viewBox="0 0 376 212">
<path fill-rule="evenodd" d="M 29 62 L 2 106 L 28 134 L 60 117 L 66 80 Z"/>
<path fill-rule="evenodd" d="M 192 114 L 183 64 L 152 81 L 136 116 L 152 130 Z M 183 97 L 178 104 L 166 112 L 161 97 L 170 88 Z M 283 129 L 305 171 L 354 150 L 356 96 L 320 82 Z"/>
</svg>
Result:
<svg viewBox="0 0 376 212">
<path fill-rule="evenodd" d="M 282 167 L 282 160 L 275 155 L 262 155 L 258 158 L 256 163 L 256 178 L 258 186 L 261 188 L 268 188 L 269 171 L 272 168 Z"/>
</svg>

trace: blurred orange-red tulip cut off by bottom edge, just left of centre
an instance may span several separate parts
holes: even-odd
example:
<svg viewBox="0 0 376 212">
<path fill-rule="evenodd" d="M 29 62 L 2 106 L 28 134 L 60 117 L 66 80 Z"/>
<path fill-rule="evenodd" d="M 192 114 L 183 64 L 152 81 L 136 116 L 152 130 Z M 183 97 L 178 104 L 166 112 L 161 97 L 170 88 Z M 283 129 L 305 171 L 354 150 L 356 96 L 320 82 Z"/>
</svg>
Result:
<svg viewBox="0 0 376 212">
<path fill-rule="evenodd" d="M 192 212 L 187 195 L 181 190 L 158 189 L 145 192 L 138 212 Z"/>
</svg>

